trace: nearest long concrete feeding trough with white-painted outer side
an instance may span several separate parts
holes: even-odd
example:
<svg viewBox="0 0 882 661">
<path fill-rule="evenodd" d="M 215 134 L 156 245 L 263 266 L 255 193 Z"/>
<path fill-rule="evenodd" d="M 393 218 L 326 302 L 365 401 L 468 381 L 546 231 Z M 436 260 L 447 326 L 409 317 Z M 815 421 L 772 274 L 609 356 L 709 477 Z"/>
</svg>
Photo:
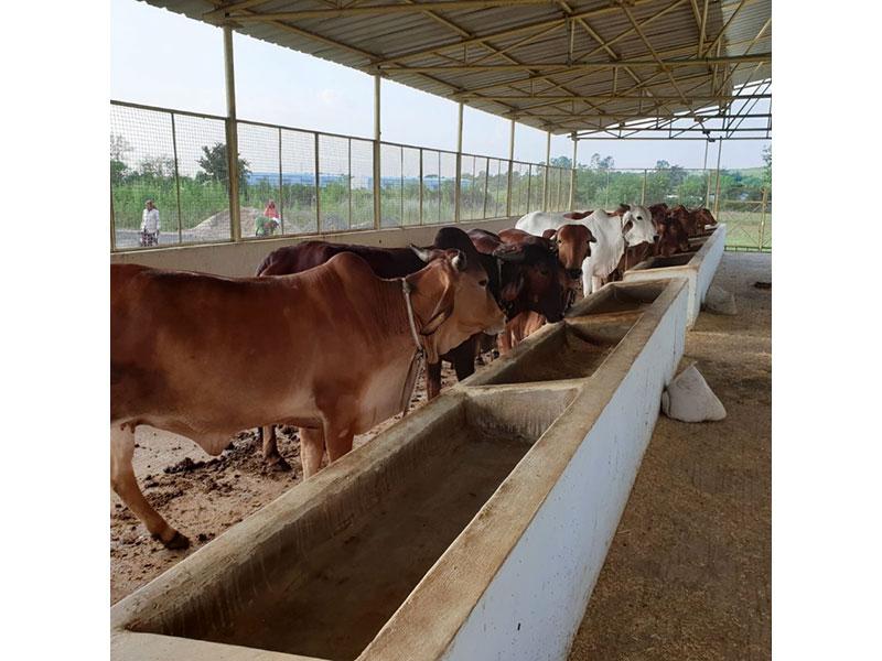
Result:
<svg viewBox="0 0 882 661">
<path fill-rule="evenodd" d="M 115 659 L 560 659 L 682 355 L 613 283 L 111 608 Z"/>
</svg>

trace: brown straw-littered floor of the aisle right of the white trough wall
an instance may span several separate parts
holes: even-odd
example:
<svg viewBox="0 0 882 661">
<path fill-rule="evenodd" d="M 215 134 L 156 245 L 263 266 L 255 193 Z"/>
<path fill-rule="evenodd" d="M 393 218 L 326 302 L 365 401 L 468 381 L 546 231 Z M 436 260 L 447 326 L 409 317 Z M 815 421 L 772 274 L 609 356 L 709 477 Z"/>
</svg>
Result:
<svg viewBox="0 0 882 661">
<path fill-rule="evenodd" d="M 662 416 L 570 661 L 771 659 L 770 254 L 723 256 L 738 314 L 702 312 L 681 365 L 725 405 L 717 423 Z"/>
</svg>

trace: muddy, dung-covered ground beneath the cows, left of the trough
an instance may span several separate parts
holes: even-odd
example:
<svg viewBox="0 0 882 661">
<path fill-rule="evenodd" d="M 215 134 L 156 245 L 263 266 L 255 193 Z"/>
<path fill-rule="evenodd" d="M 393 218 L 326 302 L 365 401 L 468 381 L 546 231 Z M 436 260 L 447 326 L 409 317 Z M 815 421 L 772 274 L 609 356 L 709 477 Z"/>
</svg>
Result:
<svg viewBox="0 0 882 661">
<path fill-rule="evenodd" d="M 442 386 L 455 382 L 455 373 L 444 364 Z M 423 377 L 413 395 L 411 410 L 426 403 Z M 363 445 L 400 418 L 396 415 L 356 436 L 354 446 Z M 256 432 L 240 433 L 232 440 L 232 448 L 212 457 L 189 438 L 138 427 L 133 460 L 138 484 L 150 503 L 190 538 L 191 545 L 185 551 L 165 550 L 111 491 L 110 603 L 116 604 L 299 484 L 303 469 L 297 430 L 282 427 L 278 440 L 279 452 L 293 467 L 290 473 L 265 470 Z"/>
</svg>

